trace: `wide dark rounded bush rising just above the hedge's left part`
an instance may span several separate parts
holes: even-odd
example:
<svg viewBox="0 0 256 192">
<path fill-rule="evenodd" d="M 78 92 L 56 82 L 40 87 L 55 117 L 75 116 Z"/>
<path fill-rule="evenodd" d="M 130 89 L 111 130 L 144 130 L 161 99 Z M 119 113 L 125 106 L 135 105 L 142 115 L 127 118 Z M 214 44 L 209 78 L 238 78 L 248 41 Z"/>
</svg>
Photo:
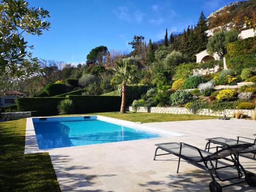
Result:
<svg viewBox="0 0 256 192">
<path fill-rule="evenodd" d="M 67 93 L 69 91 L 69 87 L 64 83 L 48 83 L 44 89 L 44 91 L 49 96 L 60 95 L 63 93 Z"/>
</svg>

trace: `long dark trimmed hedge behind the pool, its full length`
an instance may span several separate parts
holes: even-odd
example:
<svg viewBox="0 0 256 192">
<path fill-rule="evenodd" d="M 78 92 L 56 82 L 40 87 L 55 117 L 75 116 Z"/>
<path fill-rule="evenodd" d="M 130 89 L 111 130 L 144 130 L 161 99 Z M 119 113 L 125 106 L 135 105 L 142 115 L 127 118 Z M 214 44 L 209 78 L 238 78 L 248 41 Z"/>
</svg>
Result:
<svg viewBox="0 0 256 192">
<path fill-rule="evenodd" d="M 58 115 L 57 106 L 63 99 L 70 98 L 74 103 L 73 114 L 119 111 L 120 96 L 74 96 L 17 98 L 19 111 L 37 111 L 34 116 Z"/>
</svg>

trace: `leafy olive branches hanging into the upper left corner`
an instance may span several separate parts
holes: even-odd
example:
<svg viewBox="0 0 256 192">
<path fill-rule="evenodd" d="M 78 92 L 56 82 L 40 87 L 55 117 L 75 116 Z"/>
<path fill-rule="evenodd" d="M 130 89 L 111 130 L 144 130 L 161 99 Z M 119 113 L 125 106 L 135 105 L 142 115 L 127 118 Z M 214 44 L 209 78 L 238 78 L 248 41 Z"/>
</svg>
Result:
<svg viewBox="0 0 256 192">
<path fill-rule="evenodd" d="M 6 81 L 31 76 L 37 69 L 37 58 L 32 57 L 24 34 L 41 35 L 50 23 L 49 12 L 29 7 L 25 0 L 0 1 L 0 76 Z M 3 82 L 2 82 L 3 83 Z"/>
</svg>

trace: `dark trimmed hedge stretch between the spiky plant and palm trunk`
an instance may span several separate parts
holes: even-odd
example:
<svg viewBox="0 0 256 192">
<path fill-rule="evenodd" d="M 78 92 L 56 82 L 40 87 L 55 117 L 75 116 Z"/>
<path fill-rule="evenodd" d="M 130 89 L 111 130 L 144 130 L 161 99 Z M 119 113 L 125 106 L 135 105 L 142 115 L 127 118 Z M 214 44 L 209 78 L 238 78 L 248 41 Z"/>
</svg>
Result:
<svg viewBox="0 0 256 192">
<path fill-rule="evenodd" d="M 119 111 L 121 106 L 120 96 L 80 96 L 69 95 L 73 100 L 74 113 L 100 113 Z"/>
</svg>

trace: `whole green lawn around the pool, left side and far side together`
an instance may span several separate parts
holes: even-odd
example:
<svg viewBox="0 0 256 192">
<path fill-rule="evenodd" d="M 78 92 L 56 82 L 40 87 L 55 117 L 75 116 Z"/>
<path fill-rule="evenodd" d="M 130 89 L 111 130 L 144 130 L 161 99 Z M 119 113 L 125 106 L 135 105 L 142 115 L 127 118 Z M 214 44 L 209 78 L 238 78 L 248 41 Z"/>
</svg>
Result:
<svg viewBox="0 0 256 192">
<path fill-rule="evenodd" d="M 214 119 L 200 115 L 94 113 L 134 122 Z M 48 153 L 24 155 L 26 119 L 0 122 L 0 191 L 60 191 Z"/>
</svg>

